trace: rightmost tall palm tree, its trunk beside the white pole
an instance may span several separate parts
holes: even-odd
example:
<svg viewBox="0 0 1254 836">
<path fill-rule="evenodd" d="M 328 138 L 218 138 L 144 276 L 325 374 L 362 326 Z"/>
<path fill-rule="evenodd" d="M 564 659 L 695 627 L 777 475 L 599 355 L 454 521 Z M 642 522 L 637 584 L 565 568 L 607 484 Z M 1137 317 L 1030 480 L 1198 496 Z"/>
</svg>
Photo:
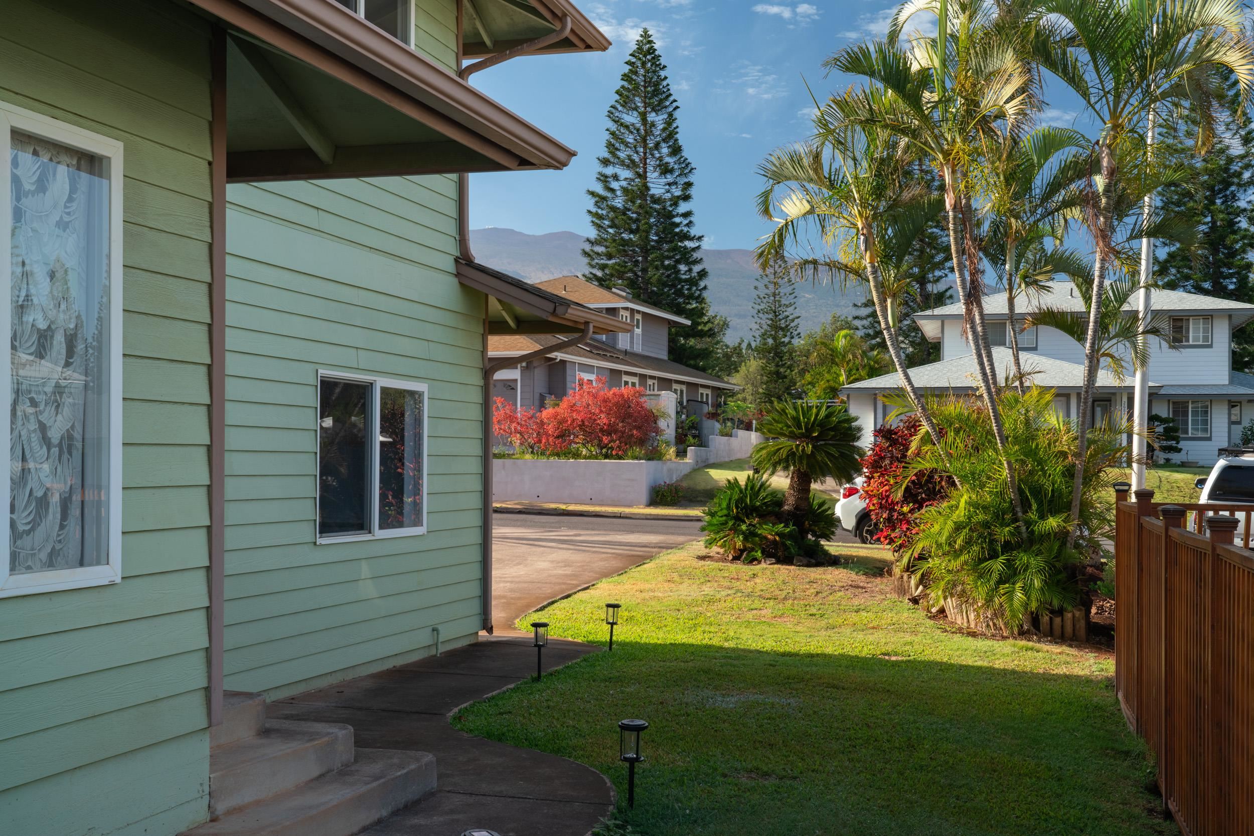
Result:
<svg viewBox="0 0 1254 836">
<path fill-rule="evenodd" d="M 1033 44 L 1037 64 L 1080 97 L 1100 124 L 1093 143 L 1096 199 L 1088 207 L 1095 256 L 1091 298 L 1105 295 L 1115 256 L 1114 212 L 1119 160 L 1151 114 L 1186 103 L 1200 118 L 1199 149 L 1210 140 L 1215 97 L 1211 70 L 1231 70 L 1243 99 L 1254 89 L 1254 46 L 1246 38 L 1238 0 L 1041 0 L 1043 18 Z M 1090 306 L 1085 332 L 1085 381 L 1080 415 L 1088 414 L 1097 377 L 1101 306 Z M 1085 461 L 1087 425 L 1077 431 L 1077 460 Z M 1078 520 L 1082 469 L 1076 470 L 1071 518 Z M 1076 526 L 1068 544 L 1076 536 Z"/>
</svg>

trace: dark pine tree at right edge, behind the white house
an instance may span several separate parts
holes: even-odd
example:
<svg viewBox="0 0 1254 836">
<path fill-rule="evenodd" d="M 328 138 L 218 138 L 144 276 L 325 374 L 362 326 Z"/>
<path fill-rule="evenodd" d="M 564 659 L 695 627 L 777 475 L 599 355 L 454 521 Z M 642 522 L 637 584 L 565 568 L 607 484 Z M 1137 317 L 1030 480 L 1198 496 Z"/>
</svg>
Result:
<svg viewBox="0 0 1254 836">
<path fill-rule="evenodd" d="M 1215 125 L 1215 140 L 1205 155 L 1193 150 L 1198 119 L 1191 112 L 1183 130 L 1166 134 L 1155 149 L 1191 173 L 1186 182 L 1159 192 L 1161 211 L 1188 218 L 1199 231 L 1193 249 L 1159 252 L 1155 278 L 1172 290 L 1254 302 L 1254 123 L 1236 117 L 1240 95 L 1235 79 L 1228 79 L 1223 99 L 1231 115 Z M 1250 328 L 1233 332 L 1233 368 L 1254 374 Z"/>
</svg>

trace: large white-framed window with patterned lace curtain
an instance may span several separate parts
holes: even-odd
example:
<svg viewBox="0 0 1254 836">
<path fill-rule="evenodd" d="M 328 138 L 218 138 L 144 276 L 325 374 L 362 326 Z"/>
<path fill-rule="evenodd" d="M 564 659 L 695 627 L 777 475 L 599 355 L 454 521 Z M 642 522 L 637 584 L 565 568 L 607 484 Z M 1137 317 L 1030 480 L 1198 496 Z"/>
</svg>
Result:
<svg viewBox="0 0 1254 836">
<path fill-rule="evenodd" d="M 0 598 L 122 580 L 122 143 L 0 103 Z"/>
</svg>

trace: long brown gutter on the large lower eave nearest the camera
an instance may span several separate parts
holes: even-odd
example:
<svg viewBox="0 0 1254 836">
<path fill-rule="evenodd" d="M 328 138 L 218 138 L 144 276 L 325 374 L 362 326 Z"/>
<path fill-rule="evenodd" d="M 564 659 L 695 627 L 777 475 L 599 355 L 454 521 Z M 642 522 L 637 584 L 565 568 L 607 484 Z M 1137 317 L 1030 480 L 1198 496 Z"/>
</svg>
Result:
<svg viewBox="0 0 1254 836">
<path fill-rule="evenodd" d="M 188 0 L 505 168 L 564 168 L 574 150 L 327 0 Z"/>
</svg>

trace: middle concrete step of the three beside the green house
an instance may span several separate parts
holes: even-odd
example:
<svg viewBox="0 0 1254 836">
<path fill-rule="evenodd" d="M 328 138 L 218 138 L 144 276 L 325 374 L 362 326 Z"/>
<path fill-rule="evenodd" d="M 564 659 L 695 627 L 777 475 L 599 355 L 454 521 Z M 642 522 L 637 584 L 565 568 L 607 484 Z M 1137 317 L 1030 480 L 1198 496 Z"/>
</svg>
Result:
<svg viewBox="0 0 1254 836">
<path fill-rule="evenodd" d="M 209 752 L 209 816 L 312 781 L 352 763 L 352 727 L 271 719 L 266 731 Z"/>
</svg>

